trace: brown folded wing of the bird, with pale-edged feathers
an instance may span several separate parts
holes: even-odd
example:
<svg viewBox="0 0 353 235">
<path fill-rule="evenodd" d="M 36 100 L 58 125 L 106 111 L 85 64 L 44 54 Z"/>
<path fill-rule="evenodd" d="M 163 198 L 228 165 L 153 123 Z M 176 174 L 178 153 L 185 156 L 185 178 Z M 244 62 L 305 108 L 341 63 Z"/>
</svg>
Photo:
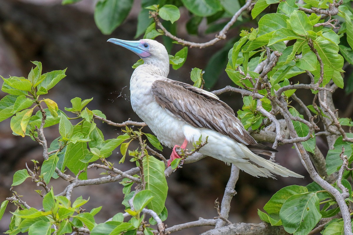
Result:
<svg viewBox="0 0 353 235">
<path fill-rule="evenodd" d="M 190 125 L 218 131 L 245 145 L 257 144 L 234 111 L 214 94 L 170 79 L 153 82 L 151 91 L 161 107 Z"/>
</svg>

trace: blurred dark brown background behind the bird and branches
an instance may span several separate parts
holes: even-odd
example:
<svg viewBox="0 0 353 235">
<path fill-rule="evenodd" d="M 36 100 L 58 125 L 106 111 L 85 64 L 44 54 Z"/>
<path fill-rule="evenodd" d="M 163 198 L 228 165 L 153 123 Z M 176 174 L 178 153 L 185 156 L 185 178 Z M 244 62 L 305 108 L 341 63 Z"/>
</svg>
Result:
<svg viewBox="0 0 353 235">
<path fill-rule="evenodd" d="M 132 11 L 125 22 L 112 35 L 103 35 L 96 27 L 93 11 L 95 1 L 84 0 L 78 4 L 61 5 L 61 0 L 0 0 L 0 75 L 4 78 L 11 76 L 27 77 L 31 67 L 30 61 L 41 61 L 43 73 L 52 70 L 65 69 L 66 78 L 49 91 L 43 98 L 54 100 L 59 109 L 70 107 L 70 100 L 74 97 L 82 99 L 94 98 L 88 108 L 99 109 L 107 119 L 113 122 L 123 122 L 128 118 L 141 121 L 132 111 L 130 105 L 129 80 L 133 72 L 131 66 L 139 59 L 134 53 L 124 48 L 107 43 L 110 37 L 134 40 L 137 25 L 137 15 L 140 11 L 140 1 L 135 0 Z M 181 10 L 183 24 L 187 21 L 187 14 Z M 256 25 L 242 25 L 249 28 Z M 242 29 L 243 29 L 242 28 Z M 178 37 L 189 41 L 207 42 L 214 37 L 214 33 L 199 36 L 189 36 L 183 29 L 178 30 Z M 239 27 L 229 31 L 227 38 L 239 35 Z M 141 36 L 142 37 L 142 36 Z M 137 38 L 140 39 L 140 38 Z M 160 40 L 158 37 L 157 40 Z M 186 63 L 179 70 L 170 71 L 169 78 L 191 83 L 190 71 L 194 67 L 204 69 L 209 58 L 220 51 L 225 42 L 219 42 L 213 47 L 205 49 L 191 48 Z M 181 49 L 175 45 L 172 53 Z M 224 56 L 226 57 L 228 50 Z M 223 52 L 224 53 L 224 52 Z M 224 68 L 227 61 L 223 61 Z M 206 70 L 206 73 L 208 71 Z M 217 78 L 214 78 L 217 79 Z M 306 79 L 295 77 L 294 79 Z M 220 89 L 231 85 L 232 81 L 225 72 L 215 83 L 213 89 Z M 2 85 L 2 80 L 0 81 Z M 347 107 L 343 117 L 350 117 L 352 109 L 348 109 L 351 98 L 342 92 L 337 98 L 338 108 Z M 0 91 L 0 98 L 6 94 Z M 310 100 L 310 91 L 298 94 L 300 98 Z M 342 99 L 343 96 L 343 99 Z M 243 106 L 240 94 L 224 93 L 220 95 L 236 112 Z M 309 101 L 310 102 L 310 101 Z M 306 104 L 310 104 L 307 103 Z M 299 109 L 299 108 L 298 108 Z M 73 113 L 68 113 L 74 117 Z M 115 138 L 121 134 L 119 128 L 98 123 L 106 138 Z M 59 136 L 58 127 L 44 129 L 48 143 Z M 145 127 L 144 132 L 149 132 Z M 323 140 L 317 138 L 319 148 L 326 155 L 327 147 Z M 130 149 L 137 146 L 130 145 Z M 163 155 L 168 158 L 171 150 L 164 148 Z M 121 155 L 113 153 L 109 161 L 115 162 L 115 167 L 125 171 L 134 167 L 126 161 L 118 165 Z M 27 162 L 33 168 L 31 159 L 43 161 L 42 148 L 29 137 L 22 138 L 12 135 L 10 118 L 0 123 L 0 202 L 10 197 L 9 191 L 14 172 L 25 168 Z M 277 180 L 254 178 L 241 172 L 235 190 L 238 192 L 232 200 L 229 220 L 231 222 L 261 222 L 257 216 L 257 209 L 262 209 L 270 197 L 280 188 L 298 184 L 311 183 L 304 167 L 301 165 L 292 146 L 280 146 L 276 161 L 281 165 L 305 175 L 304 179 L 277 177 Z M 175 224 L 197 220 L 198 217 L 213 218 L 217 216 L 214 201 L 223 197 L 224 188 L 229 178 L 230 166 L 223 162 L 207 157 L 199 162 L 184 165 L 168 179 L 168 198 L 166 206 L 168 219 L 166 224 L 171 227 Z M 89 178 L 99 177 L 99 173 L 90 169 Z M 54 194 L 60 193 L 67 186 L 60 179 L 50 181 L 54 186 Z M 22 199 L 30 206 L 42 208 L 42 199 L 34 191 L 38 188 L 30 179 L 14 188 Z M 96 222 L 104 222 L 118 212 L 124 212 L 121 205 L 124 194 L 122 185 L 110 183 L 97 186 L 75 188 L 72 199 L 82 195 L 84 199 L 90 197 L 85 209 L 103 205 L 96 216 Z M 8 229 L 10 211 L 16 210 L 13 204 L 7 206 L 4 217 L 0 221 L 0 233 Z M 176 234 L 199 234 L 210 227 L 192 228 Z"/>
</svg>

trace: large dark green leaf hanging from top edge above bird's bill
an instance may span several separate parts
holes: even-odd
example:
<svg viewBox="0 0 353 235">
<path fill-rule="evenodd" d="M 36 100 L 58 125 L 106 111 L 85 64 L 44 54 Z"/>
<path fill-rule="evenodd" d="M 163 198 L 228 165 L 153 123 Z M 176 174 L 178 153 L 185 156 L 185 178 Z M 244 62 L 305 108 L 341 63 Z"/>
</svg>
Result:
<svg viewBox="0 0 353 235">
<path fill-rule="evenodd" d="M 94 10 L 94 21 L 105 35 L 112 33 L 129 14 L 133 0 L 101 0 Z"/>
</svg>

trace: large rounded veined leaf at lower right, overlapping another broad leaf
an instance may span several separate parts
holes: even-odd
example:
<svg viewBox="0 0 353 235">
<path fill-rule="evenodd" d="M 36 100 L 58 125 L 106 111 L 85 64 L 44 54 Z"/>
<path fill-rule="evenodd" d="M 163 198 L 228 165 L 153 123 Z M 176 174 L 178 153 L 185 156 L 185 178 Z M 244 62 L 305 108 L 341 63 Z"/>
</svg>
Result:
<svg viewBox="0 0 353 235">
<path fill-rule="evenodd" d="M 308 234 L 321 219 L 316 193 L 307 192 L 289 197 L 283 203 L 280 218 L 288 233 Z"/>
</svg>

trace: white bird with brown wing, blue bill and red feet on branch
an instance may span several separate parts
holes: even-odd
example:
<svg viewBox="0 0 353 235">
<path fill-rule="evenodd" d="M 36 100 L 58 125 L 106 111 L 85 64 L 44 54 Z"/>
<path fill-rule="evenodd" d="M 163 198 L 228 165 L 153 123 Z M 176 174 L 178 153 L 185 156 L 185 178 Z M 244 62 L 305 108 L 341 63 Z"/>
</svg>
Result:
<svg viewBox="0 0 353 235">
<path fill-rule="evenodd" d="M 143 59 L 130 80 L 131 105 L 158 140 L 173 148 L 168 165 L 180 157 L 175 147 L 192 148 L 192 143 L 208 137 L 199 153 L 233 163 L 255 177 L 303 177 L 257 154 L 277 151 L 258 144 L 247 132 L 234 111 L 215 94 L 184 82 L 168 79 L 169 56 L 157 41 L 108 42 L 125 47 Z"/>
</svg>

